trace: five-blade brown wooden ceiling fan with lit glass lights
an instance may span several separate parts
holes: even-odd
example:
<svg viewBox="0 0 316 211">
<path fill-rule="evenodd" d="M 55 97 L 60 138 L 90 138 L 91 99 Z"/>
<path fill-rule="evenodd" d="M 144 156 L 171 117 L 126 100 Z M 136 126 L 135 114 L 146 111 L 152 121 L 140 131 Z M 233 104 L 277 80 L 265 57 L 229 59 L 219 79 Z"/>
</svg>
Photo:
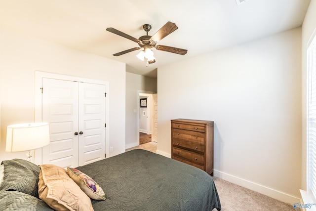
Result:
<svg viewBox="0 0 316 211">
<path fill-rule="evenodd" d="M 171 34 L 172 32 L 174 32 L 175 30 L 178 29 L 178 27 L 176 26 L 176 24 L 171 23 L 170 21 L 168 21 L 166 24 L 164 24 L 153 36 L 149 36 L 148 32 L 152 29 L 152 26 L 149 24 L 144 24 L 143 25 L 143 29 L 146 32 L 145 36 L 141 36 L 140 38 L 136 39 L 132 36 L 129 36 L 123 32 L 118 31 L 117 29 L 114 28 L 107 28 L 107 31 L 112 32 L 116 35 L 119 35 L 123 38 L 126 38 L 128 40 L 137 42 L 139 47 L 133 47 L 131 49 L 128 50 L 124 50 L 118 53 L 113 54 L 114 56 L 120 56 L 123 55 L 125 53 L 129 53 L 132 52 L 134 50 L 138 50 L 141 48 L 144 48 L 142 51 L 140 51 L 137 55 L 137 57 L 141 60 L 144 61 L 144 59 L 147 59 L 147 65 L 148 64 L 152 64 L 156 62 L 156 59 L 154 57 L 154 52 L 151 50 L 151 48 L 156 48 L 157 50 L 162 50 L 162 51 L 167 51 L 170 53 L 177 53 L 180 55 L 185 55 L 188 50 L 186 49 L 182 49 L 182 48 L 177 48 L 177 47 L 171 47 L 171 46 L 166 46 L 166 45 L 157 45 L 157 42 L 162 40 L 164 37 L 166 37 L 167 35 Z"/>
</svg>

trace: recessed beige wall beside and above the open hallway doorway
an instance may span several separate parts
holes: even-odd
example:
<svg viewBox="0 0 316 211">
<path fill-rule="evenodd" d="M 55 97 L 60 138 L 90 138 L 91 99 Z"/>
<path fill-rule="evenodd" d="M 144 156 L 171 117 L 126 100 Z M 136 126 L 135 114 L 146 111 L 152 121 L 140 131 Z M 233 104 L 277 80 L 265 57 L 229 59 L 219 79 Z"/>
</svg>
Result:
<svg viewBox="0 0 316 211">
<path fill-rule="evenodd" d="M 126 148 L 139 144 L 139 92 L 157 93 L 157 79 L 126 73 Z M 137 111 L 137 113 L 134 112 Z"/>
</svg>

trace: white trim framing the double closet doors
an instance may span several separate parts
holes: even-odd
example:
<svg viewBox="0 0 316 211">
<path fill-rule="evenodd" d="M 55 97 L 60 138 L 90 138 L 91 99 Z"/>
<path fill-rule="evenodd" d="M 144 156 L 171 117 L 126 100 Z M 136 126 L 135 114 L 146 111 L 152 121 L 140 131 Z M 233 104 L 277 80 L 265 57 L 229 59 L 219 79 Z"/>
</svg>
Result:
<svg viewBox="0 0 316 211">
<path fill-rule="evenodd" d="M 106 98 L 105 98 L 105 122 L 107 124 L 107 127 L 105 127 L 105 153 L 109 157 L 110 155 L 110 130 L 109 130 L 109 124 L 110 124 L 110 94 L 109 94 L 109 82 L 107 81 L 100 81 L 100 80 L 93 80 L 93 79 L 86 79 L 86 78 L 80 78 L 76 76 L 67 76 L 67 75 L 60 75 L 60 74 L 54 74 L 54 73 L 47 73 L 47 72 L 41 72 L 41 71 L 35 71 L 35 122 L 42 122 L 42 114 L 41 114 L 41 101 L 42 101 L 42 95 L 41 95 L 41 88 L 42 88 L 42 78 L 49 78 L 49 79 L 58 79 L 58 80 L 65 80 L 65 81 L 76 81 L 76 82 L 83 82 L 83 83 L 90 83 L 90 84 L 102 84 L 105 85 L 106 89 Z M 36 164 L 42 164 L 42 150 L 37 149 L 35 150 L 35 159 L 34 162 Z"/>
</svg>

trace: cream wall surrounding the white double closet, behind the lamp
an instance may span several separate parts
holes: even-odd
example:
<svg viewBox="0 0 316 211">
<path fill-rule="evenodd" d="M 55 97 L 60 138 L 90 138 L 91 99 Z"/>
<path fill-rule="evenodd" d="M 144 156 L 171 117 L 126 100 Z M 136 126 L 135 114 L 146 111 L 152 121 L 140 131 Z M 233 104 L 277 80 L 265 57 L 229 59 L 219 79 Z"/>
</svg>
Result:
<svg viewBox="0 0 316 211">
<path fill-rule="evenodd" d="M 6 127 L 34 122 L 36 70 L 109 82 L 110 156 L 125 151 L 125 64 L 0 28 L 0 160 L 25 158 L 5 152 Z"/>
</svg>

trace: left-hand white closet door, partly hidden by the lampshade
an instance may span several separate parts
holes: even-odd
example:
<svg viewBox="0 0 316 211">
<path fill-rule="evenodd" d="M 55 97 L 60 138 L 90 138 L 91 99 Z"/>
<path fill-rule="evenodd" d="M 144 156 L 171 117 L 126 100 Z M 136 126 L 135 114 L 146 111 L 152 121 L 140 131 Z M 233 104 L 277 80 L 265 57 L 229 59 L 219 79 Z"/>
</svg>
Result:
<svg viewBox="0 0 316 211">
<path fill-rule="evenodd" d="M 77 167 L 78 83 L 42 79 L 42 121 L 50 127 L 50 144 L 42 148 L 42 163 Z"/>
</svg>

